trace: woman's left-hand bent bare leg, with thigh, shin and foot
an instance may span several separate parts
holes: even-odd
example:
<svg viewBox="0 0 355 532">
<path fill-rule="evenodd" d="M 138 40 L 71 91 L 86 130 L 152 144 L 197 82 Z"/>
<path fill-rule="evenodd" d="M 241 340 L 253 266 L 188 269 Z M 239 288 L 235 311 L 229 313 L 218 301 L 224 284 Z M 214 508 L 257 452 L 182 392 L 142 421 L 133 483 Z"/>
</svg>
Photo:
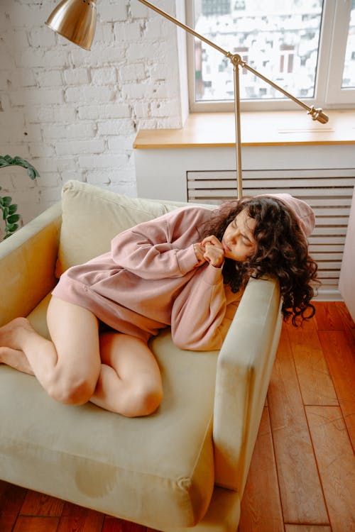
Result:
<svg viewBox="0 0 355 532">
<path fill-rule="evenodd" d="M 26 318 L 16 318 L 2 327 L 0 347 L 6 348 L 3 361 L 11 362 L 12 358 L 10 365 L 16 369 L 32 370 L 48 394 L 60 402 L 87 402 L 101 367 L 97 318 L 80 306 L 53 297 L 48 307 L 48 329 L 53 341 L 36 333 Z M 18 365 L 13 360 L 16 351 Z"/>
</svg>

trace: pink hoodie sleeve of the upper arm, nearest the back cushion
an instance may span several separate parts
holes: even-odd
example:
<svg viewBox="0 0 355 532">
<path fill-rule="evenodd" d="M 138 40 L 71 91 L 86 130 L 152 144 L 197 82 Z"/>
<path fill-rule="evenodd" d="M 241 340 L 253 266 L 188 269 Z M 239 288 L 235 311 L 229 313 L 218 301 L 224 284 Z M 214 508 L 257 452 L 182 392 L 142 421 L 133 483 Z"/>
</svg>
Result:
<svg viewBox="0 0 355 532">
<path fill-rule="evenodd" d="M 193 244 L 199 241 L 203 210 L 177 209 L 116 235 L 112 259 L 143 279 L 184 276 L 197 265 Z"/>
</svg>

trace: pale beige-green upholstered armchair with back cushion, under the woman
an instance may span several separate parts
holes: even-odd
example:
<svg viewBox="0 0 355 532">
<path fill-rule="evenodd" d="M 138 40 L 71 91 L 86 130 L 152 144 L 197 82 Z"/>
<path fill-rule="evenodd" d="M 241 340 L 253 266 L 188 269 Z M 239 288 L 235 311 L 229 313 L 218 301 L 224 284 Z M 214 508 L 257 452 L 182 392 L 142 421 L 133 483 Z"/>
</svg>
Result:
<svg viewBox="0 0 355 532">
<path fill-rule="evenodd" d="M 1 324 L 29 315 L 48 335 L 58 275 L 177 206 L 65 184 L 61 204 L 0 244 Z M 151 341 L 164 399 L 145 418 L 57 403 L 0 365 L 0 478 L 162 531 L 235 532 L 280 337 L 278 284 L 250 281 L 235 310 L 220 352 L 180 350 L 168 329 Z"/>
</svg>

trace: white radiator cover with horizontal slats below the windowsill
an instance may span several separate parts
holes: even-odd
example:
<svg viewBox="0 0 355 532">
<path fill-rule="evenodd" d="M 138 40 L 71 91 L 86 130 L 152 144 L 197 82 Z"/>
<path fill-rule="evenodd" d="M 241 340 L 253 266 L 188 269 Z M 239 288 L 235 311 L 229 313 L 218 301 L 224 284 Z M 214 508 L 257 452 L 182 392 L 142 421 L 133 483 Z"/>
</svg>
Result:
<svg viewBox="0 0 355 532">
<path fill-rule="evenodd" d="M 306 201 L 315 211 L 316 226 L 310 236 L 310 254 L 317 261 L 322 282 L 317 299 L 342 299 L 339 273 L 355 169 L 244 170 L 243 195 L 288 192 Z M 221 204 L 235 199 L 235 172 L 187 172 L 187 200 L 194 203 Z"/>
</svg>

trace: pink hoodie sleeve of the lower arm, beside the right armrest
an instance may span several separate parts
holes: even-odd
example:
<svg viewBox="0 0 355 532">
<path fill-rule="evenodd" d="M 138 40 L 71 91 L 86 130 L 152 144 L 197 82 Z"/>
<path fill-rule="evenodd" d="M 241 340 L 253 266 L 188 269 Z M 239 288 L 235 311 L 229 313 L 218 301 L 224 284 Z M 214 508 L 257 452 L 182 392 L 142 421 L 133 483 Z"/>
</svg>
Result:
<svg viewBox="0 0 355 532">
<path fill-rule="evenodd" d="M 171 332 L 181 349 L 196 351 L 221 348 L 229 321 L 222 268 L 202 265 L 173 303 Z"/>
</svg>

